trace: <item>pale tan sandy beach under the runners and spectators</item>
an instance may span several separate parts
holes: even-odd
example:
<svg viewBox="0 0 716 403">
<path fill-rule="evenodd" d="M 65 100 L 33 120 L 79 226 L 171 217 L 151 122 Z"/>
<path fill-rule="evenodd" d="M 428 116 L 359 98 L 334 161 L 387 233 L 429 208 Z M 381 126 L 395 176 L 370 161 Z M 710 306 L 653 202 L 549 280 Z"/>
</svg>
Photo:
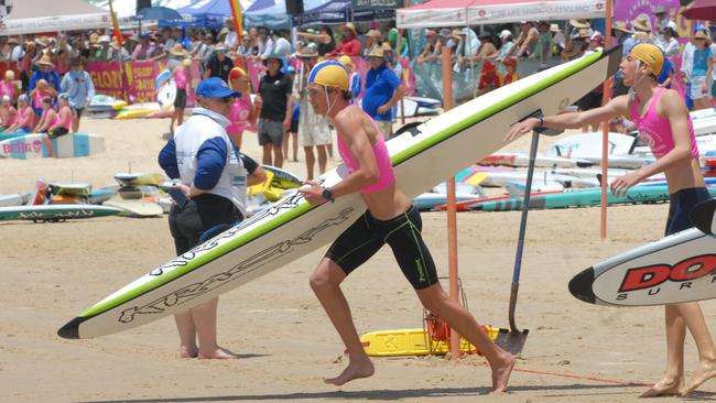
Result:
<svg viewBox="0 0 716 403">
<path fill-rule="evenodd" d="M 85 119 L 106 152 L 83 159 L 0 160 L 0 194 L 56 182 L 113 183 L 118 172 L 161 172 L 156 154 L 169 120 Z M 542 142 L 545 148 L 549 142 Z M 529 138 L 509 145 L 527 150 Z M 254 133 L 243 151 L 260 161 Z M 336 153 L 337 156 L 337 153 Z M 300 163 L 285 167 L 305 176 Z M 334 166 L 337 161 L 332 161 Z M 430 185 L 430 184 L 428 184 Z M 426 186 L 428 187 L 428 186 Z M 171 318 L 89 340 L 56 330 L 79 312 L 174 257 L 166 217 L 63 224 L 0 224 L 1 402 L 629 402 L 665 367 L 663 308 L 608 308 L 572 297 L 568 280 L 620 251 L 662 236 L 666 204 L 530 213 L 517 322 L 530 329 L 509 393 L 484 395 L 481 357 L 377 358 L 376 374 L 341 388 L 323 383 L 347 362 L 308 287 L 325 248 L 220 298 L 219 341 L 241 358 L 180 359 Z M 508 327 L 519 213 L 458 215 L 459 273 L 480 324 Z M 447 276 L 446 215 L 423 214 L 423 236 Z M 447 286 L 446 282 L 444 283 Z M 422 307 L 388 248 L 345 283 L 359 333 L 422 326 Z M 705 302 L 707 323 L 716 303 Z M 696 366 L 691 337 L 686 371 Z M 716 391 L 716 381 L 704 391 Z M 714 399 L 710 393 L 693 399 Z M 666 397 L 659 402 L 683 401 Z"/>
</svg>

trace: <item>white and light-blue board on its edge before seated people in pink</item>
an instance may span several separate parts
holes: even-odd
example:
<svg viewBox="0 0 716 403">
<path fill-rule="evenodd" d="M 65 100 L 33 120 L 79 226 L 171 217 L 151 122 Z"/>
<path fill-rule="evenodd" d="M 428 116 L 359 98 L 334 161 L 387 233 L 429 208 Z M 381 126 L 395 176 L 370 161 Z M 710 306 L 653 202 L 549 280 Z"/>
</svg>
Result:
<svg viewBox="0 0 716 403">
<path fill-rule="evenodd" d="M 20 138 L 0 141 L 0 157 L 43 159 L 50 156 L 43 138 L 46 134 L 33 133 Z M 87 156 L 105 152 L 105 139 L 99 135 L 69 133 L 52 140 L 58 159 Z"/>
</svg>

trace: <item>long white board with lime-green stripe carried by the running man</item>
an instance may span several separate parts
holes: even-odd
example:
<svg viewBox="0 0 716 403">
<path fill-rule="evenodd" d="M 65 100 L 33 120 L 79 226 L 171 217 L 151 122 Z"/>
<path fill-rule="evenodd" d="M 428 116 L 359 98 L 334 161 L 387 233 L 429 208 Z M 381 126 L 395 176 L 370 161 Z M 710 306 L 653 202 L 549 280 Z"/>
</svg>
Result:
<svg viewBox="0 0 716 403">
<path fill-rule="evenodd" d="M 415 197 L 506 145 L 510 124 L 554 115 L 616 73 L 621 48 L 593 53 L 525 77 L 388 141 L 399 187 Z M 332 186 L 345 166 L 318 178 Z M 152 270 L 58 330 L 90 338 L 130 329 L 246 284 L 334 240 L 366 207 L 358 194 L 311 206 L 293 193 L 241 225 Z"/>
</svg>

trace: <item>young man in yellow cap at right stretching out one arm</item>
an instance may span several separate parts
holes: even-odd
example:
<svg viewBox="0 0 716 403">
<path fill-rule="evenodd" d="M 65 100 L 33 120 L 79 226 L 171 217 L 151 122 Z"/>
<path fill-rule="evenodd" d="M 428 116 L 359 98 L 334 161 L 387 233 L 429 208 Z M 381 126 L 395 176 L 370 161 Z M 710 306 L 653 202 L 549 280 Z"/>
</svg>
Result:
<svg viewBox="0 0 716 403">
<path fill-rule="evenodd" d="M 510 129 L 506 141 L 531 132 L 536 127 L 576 129 L 605 120 L 630 116 L 657 156 L 657 162 L 636 170 L 611 182 L 611 193 L 623 195 L 633 185 L 663 172 L 670 193 L 666 235 L 692 227 L 690 210 L 709 199 L 704 177 L 698 166 L 698 149 L 688 110 L 677 91 L 659 87 L 657 77 L 664 65 L 661 50 L 651 44 L 634 46 L 621 62 L 623 84 L 628 95 L 614 98 L 609 104 L 578 113 L 564 113 L 545 118 L 530 118 Z M 666 373 L 662 380 L 644 391 L 642 397 L 687 394 L 710 378 L 716 377 L 716 348 L 696 302 L 668 304 L 666 316 Z M 698 349 L 698 368 L 693 380 L 684 385 L 684 339 L 686 328 Z"/>
</svg>

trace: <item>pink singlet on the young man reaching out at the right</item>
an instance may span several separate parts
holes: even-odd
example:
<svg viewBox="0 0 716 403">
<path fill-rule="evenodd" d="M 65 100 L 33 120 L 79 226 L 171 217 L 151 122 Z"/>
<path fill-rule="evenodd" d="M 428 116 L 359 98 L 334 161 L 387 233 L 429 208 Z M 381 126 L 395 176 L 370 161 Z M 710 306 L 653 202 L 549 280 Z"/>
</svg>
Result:
<svg viewBox="0 0 716 403">
<path fill-rule="evenodd" d="M 665 88 L 654 89 L 654 95 L 651 97 L 651 104 L 643 117 L 639 116 L 638 97 L 634 96 L 631 107 L 629 108 L 631 121 L 633 121 L 639 129 L 639 139 L 649 144 L 651 152 L 654 153 L 654 156 L 658 159 L 666 155 L 666 153 L 674 149 L 674 134 L 671 131 L 669 119 L 660 117 L 657 112 L 657 102 L 659 102 L 664 89 Z M 691 117 L 688 118 L 688 137 L 691 140 L 691 156 L 698 159 L 698 145 L 696 145 L 694 123 L 692 122 Z"/>
</svg>

